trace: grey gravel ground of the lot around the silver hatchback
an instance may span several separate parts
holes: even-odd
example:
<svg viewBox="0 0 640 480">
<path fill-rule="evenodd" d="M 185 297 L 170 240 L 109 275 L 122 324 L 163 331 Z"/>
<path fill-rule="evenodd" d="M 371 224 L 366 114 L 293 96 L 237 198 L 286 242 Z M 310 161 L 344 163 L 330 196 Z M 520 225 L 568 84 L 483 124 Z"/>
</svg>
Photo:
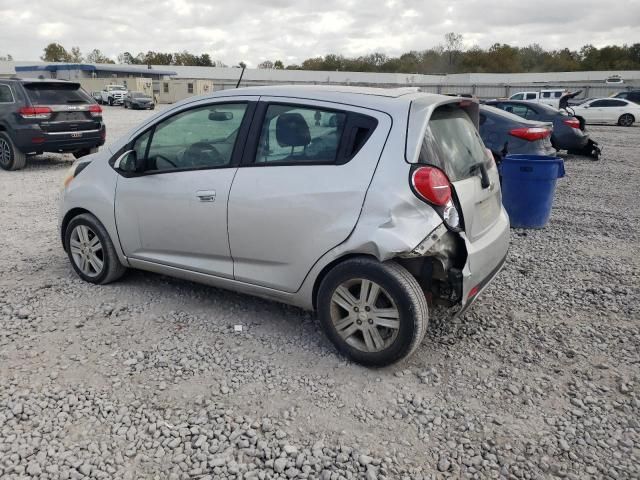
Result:
<svg viewBox="0 0 640 480">
<path fill-rule="evenodd" d="M 106 107 L 109 135 L 147 115 Z M 71 159 L 0 171 L 0 478 L 640 478 L 640 128 L 591 133 L 604 157 L 567 157 L 550 225 L 382 370 L 295 308 L 82 282 L 56 231 Z"/>
</svg>

